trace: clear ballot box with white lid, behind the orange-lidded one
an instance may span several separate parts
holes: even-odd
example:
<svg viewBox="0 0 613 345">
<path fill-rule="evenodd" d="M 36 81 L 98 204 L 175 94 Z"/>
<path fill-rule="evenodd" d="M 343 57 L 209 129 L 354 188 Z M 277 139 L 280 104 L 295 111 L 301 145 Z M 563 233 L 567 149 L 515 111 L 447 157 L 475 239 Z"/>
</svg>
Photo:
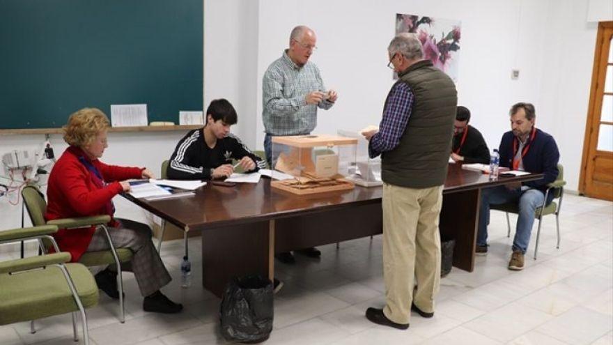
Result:
<svg viewBox="0 0 613 345">
<path fill-rule="evenodd" d="M 381 181 L 381 158 L 368 157 L 368 141 L 364 139 L 364 136 L 350 130 L 339 130 L 338 134 L 342 137 L 357 139 L 355 165 L 350 167 L 346 179 L 363 187 L 383 185 L 383 181 Z"/>
</svg>

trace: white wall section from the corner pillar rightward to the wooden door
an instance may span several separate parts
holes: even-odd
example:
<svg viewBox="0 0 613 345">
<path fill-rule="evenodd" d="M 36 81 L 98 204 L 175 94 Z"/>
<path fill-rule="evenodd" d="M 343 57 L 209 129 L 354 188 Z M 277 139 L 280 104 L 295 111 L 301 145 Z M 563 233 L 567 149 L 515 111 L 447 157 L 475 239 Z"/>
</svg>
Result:
<svg viewBox="0 0 613 345">
<path fill-rule="evenodd" d="M 552 134 L 577 190 L 596 23 L 587 23 L 589 0 L 263 0 L 259 10 L 258 147 L 262 146 L 261 77 L 281 56 L 293 26 L 311 26 L 318 50 L 311 56 L 328 88 L 339 91 L 319 111 L 315 132 L 358 130 L 378 124 L 393 84 L 386 64 L 396 13 L 461 20 L 458 100 L 490 148 L 509 130 L 509 108 L 532 102 L 537 125 Z M 350 10 L 349 10 L 350 9 Z M 279 15 L 284 13 L 284 15 Z M 511 79 L 518 68 L 520 77 Z"/>
</svg>

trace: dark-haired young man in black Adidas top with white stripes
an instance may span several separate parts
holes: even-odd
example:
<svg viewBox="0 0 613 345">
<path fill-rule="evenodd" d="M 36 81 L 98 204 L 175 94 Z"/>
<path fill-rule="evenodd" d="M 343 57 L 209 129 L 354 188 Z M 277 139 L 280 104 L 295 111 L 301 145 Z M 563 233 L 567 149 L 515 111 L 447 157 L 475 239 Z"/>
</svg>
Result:
<svg viewBox="0 0 613 345">
<path fill-rule="evenodd" d="M 234 172 L 232 159 L 245 171 L 265 167 L 265 161 L 230 133 L 237 123 L 236 111 L 228 100 L 212 100 L 206 109 L 206 125 L 192 130 L 179 141 L 168 166 L 168 178 L 210 180 L 226 178 Z"/>
</svg>

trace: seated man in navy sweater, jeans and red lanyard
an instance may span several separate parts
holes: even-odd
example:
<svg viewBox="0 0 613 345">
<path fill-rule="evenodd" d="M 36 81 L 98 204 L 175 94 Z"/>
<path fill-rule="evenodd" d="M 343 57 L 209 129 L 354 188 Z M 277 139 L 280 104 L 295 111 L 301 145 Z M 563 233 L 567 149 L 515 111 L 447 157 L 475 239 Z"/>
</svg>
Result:
<svg viewBox="0 0 613 345">
<path fill-rule="evenodd" d="M 511 131 L 504 133 L 500 141 L 500 166 L 545 176 L 538 181 L 508 183 L 481 192 L 476 254 L 488 253 L 490 205 L 517 202 L 519 214 L 509 270 L 522 270 L 536 208 L 543 205 L 548 183 L 555 181 L 558 176 L 557 164 L 560 153 L 553 137 L 534 127 L 536 118 L 534 105 L 517 103 L 511 107 L 509 114 Z M 547 203 L 549 204 L 552 199 L 553 194 L 549 194 Z"/>
</svg>

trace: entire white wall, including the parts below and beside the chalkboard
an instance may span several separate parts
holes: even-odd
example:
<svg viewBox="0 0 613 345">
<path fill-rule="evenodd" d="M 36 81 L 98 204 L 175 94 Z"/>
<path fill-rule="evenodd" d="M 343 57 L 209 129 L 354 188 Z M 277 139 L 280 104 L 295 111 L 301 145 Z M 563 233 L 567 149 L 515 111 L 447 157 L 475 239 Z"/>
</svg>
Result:
<svg viewBox="0 0 613 345">
<path fill-rule="evenodd" d="M 497 146 L 509 128 L 509 107 L 533 102 L 537 125 L 557 139 L 568 189 L 577 190 L 596 23 L 589 0 L 207 0 L 204 1 L 204 107 L 227 98 L 238 111 L 233 132 L 263 148 L 261 78 L 281 56 L 293 26 L 318 35 L 318 64 L 326 86 L 339 91 L 320 111 L 316 132 L 357 130 L 380 120 L 393 83 L 386 67 L 396 13 L 462 21 L 458 95 L 472 124 Z M 520 78 L 511 80 L 511 69 Z M 68 115 L 68 114 L 67 114 Z M 158 171 L 184 132 L 112 133 L 104 161 Z M 0 155 L 38 150 L 42 135 L 0 136 Z M 65 145 L 52 136 L 56 154 Z M 0 174 L 3 172 L 0 169 Z M 6 183 L 6 181 L 0 181 Z M 20 209 L 0 198 L 0 229 L 20 226 Z"/>
</svg>

